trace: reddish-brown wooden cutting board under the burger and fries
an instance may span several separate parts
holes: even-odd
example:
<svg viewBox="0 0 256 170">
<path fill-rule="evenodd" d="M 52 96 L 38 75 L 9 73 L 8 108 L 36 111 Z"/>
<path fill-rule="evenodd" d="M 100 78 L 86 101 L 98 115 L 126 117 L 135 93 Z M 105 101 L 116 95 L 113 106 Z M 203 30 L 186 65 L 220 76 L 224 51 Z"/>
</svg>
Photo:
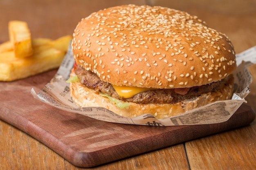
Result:
<svg viewBox="0 0 256 170">
<path fill-rule="evenodd" d="M 92 167 L 250 124 L 255 113 L 243 104 L 226 122 L 194 126 L 139 126 L 99 121 L 33 98 L 56 70 L 15 82 L 0 82 L 0 119 L 41 141 L 70 163 Z M 0 139 L 2 140 L 2 139 Z"/>
</svg>

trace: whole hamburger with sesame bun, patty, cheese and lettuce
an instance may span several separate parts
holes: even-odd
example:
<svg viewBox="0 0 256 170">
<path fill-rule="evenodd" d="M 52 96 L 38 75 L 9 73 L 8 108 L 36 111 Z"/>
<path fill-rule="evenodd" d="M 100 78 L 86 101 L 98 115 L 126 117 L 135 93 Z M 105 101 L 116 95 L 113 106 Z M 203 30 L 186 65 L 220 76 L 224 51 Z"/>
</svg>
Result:
<svg viewBox="0 0 256 170">
<path fill-rule="evenodd" d="M 234 47 L 198 17 L 167 7 L 103 9 L 76 26 L 70 92 L 124 117 L 179 115 L 233 94 Z"/>
</svg>

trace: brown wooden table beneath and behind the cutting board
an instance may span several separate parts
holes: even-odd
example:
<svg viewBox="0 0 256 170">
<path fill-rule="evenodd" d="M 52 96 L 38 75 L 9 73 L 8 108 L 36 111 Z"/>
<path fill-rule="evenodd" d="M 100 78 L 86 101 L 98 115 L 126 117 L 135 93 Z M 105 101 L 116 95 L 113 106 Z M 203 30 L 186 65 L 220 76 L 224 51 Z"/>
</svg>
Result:
<svg viewBox="0 0 256 170">
<path fill-rule="evenodd" d="M 81 18 L 120 4 L 168 6 L 198 15 L 212 28 L 226 33 L 236 53 L 256 45 L 255 0 L 3 0 L 0 1 L 0 42 L 8 40 L 9 20 L 28 22 L 34 38 L 71 35 Z M 253 82 L 252 86 L 255 86 Z M 256 110 L 256 92 L 246 99 Z M 0 96 L 3 97 L 3 96 Z M 0 113 L 1 114 L 1 113 Z M 162 148 L 90 169 L 256 169 L 256 121 L 237 128 Z M 0 169 L 78 170 L 53 150 L 25 132 L 0 120 Z"/>
</svg>

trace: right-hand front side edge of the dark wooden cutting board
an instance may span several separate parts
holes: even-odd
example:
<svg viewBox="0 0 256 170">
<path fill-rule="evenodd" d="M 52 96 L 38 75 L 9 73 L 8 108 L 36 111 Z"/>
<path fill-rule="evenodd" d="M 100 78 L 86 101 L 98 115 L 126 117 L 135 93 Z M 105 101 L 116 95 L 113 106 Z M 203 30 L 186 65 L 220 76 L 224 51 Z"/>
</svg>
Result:
<svg viewBox="0 0 256 170">
<path fill-rule="evenodd" d="M 113 146 L 101 150 L 102 155 L 98 155 L 97 152 L 81 153 L 78 152 L 74 155 L 73 164 L 83 168 L 89 168 L 98 166 L 104 163 L 109 163 L 126 157 L 139 155 L 141 153 L 150 152 L 160 148 L 165 148 L 182 142 L 198 139 L 200 137 L 206 137 L 218 132 L 224 132 L 235 128 L 247 126 L 255 119 L 255 113 L 250 106 L 242 105 L 237 112 L 226 122 L 219 124 L 205 124 L 205 125 L 192 125 L 192 126 L 179 126 L 178 129 L 163 132 L 162 134 L 149 136 L 141 140 L 130 141 L 122 144 L 122 146 Z M 236 120 L 239 120 L 237 122 Z M 137 126 L 137 125 L 132 125 Z M 170 127 L 171 128 L 171 127 Z M 186 135 L 188 134 L 188 135 Z M 188 137 L 189 136 L 189 137 Z M 138 150 L 132 150 L 131 148 L 139 148 Z M 122 148 L 122 150 L 120 150 Z M 111 150 L 109 150 L 111 149 Z M 113 150 L 118 152 L 113 153 Z M 115 154 L 115 160 L 110 157 L 109 153 Z M 96 158 L 96 159 L 95 159 Z M 89 161 L 90 160 L 90 161 Z"/>
</svg>

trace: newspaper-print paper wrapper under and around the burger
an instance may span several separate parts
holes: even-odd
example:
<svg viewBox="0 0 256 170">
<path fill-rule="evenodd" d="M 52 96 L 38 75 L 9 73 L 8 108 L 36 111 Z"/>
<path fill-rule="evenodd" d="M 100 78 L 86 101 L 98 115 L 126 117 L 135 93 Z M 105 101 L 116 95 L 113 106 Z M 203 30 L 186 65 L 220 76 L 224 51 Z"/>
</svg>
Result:
<svg viewBox="0 0 256 170">
<path fill-rule="evenodd" d="M 249 84 L 252 82 L 252 76 L 247 70 L 247 66 L 251 62 L 243 62 L 252 57 L 256 60 L 256 51 L 245 52 L 238 55 L 239 66 L 233 73 L 235 77 L 235 93 L 232 99 L 226 101 L 218 101 L 206 106 L 195 108 L 180 115 L 169 117 L 166 119 L 156 119 L 151 114 L 144 114 L 134 118 L 122 117 L 112 111 L 102 107 L 85 107 L 80 108 L 72 101 L 70 97 L 69 83 L 65 81 L 69 78 L 71 69 L 74 66 L 74 58 L 71 46 L 63 59 L 56 75 L 46 84 L 41 91 L 36 94 L 34 89 L 31 89 L 31 94 L 34 98 L 52 105 L 61 110 L 78 113 L 94 119 L 121 123 L 121 124 L 136 124 L 150 126 L 177 126 L 177 125 L 194 125 L 194 124 L 216 124 L 227 121 L 236 110 L 243 104 L 245 97 L 249 93 Z"/>
</svg>

